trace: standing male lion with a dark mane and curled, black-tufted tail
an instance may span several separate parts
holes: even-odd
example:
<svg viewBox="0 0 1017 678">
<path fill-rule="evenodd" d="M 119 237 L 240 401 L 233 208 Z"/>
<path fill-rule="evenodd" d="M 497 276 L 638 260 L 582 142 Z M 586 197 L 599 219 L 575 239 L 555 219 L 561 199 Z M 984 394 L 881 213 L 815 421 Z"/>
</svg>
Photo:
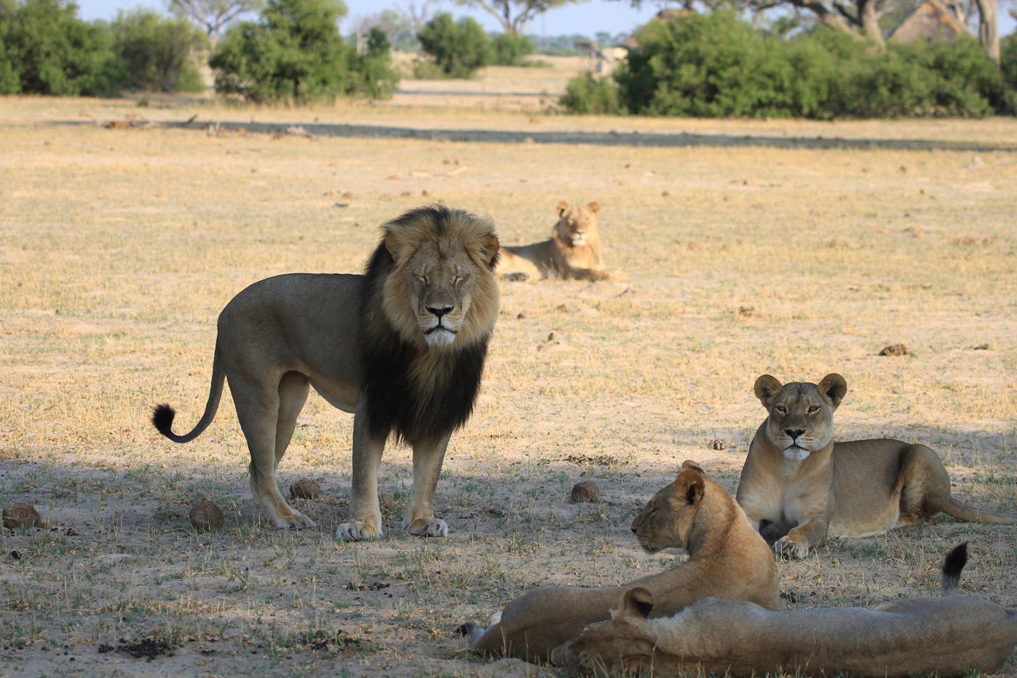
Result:
<svg viewBox="0 0 1017 678">
<path fill-rule="evenodd" d="M 444 536 L 431 501 L 452 432 L 473 409 L 498 312 L 498 240 L 490 222 L 423 207 L 381 227 L 363 275 L 291 274 L 252 284 L 219 316 L 212 387 L 184 436 L 159 405 L 153 423 L 177 443 L 216 415 L 223 379 L 250 448 L 251 493 L 277 527 L 311 526 L 276 486 L 310 386 L 353 419 L 353 498 L 336 539 L 380 536 L 378 465 L 390 433 L 413 446 L 411 534 Z"/>
</svg>

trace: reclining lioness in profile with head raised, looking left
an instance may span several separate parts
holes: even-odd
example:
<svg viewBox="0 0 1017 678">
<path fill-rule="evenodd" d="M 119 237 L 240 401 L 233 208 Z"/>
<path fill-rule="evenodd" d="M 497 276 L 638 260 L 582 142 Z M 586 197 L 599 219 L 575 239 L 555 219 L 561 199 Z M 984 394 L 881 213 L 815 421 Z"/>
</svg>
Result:
<svg viewBox="0 0 1017 678">
<path fill-rule="evenodd" d="M 551 651 L 587 624 L 607 619 L 631 586 L 653 591 L 656 616 L 671 615 L 707 596 L 781 606 L 777 570 L 766 542 L 756 533 L 734 498 L 693 461 L 658 492 L 632 524 L 650 553 L 684 549 L 689 560 L 623 586 L 541 586 L 511 601 L 490 628 L 464 624 L 477 652 L 545 663 Z"/>
</svg>

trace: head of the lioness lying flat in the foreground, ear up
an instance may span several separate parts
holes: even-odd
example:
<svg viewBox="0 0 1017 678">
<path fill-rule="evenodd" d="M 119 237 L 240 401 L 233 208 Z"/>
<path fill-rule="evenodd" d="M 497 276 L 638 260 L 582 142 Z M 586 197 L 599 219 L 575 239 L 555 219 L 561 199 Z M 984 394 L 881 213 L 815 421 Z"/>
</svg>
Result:
<svg viewBox="0 0 1017 678">
<path fill-rule="evenodd" d="M 651 669 L 643 666 L 654 655 L 646 620 L 653 610 L 653 594 L 642 586 L 621 595 L 611 618 L 588 625 L 583 632 L 551 651 L 551 664 L 574 672 L 615 675 Z"/>
</svg>

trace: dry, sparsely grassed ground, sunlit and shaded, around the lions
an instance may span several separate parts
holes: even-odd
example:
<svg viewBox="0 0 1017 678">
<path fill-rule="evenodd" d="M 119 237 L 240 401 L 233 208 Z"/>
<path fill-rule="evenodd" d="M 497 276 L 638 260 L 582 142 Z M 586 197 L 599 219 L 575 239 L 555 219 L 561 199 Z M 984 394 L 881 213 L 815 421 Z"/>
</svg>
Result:
<svg viewBox="0 0 1017 678">
<path fill-rule="evenodd" d="M 1017 511 L 1017 121 L 630 120 L 467 101 L 0 99 L 0 505 L 44 521 L 0 532 L 0 675 L 554 675 L 464 654 L 455 629 L 539 584 L 680 563 L 643 553 L 630 521 L 684 459 L 734 491 L 764 373 L 842 374 L 840 439 L 923 442 L 961 499 Z M 228 131 L 255 123 L 279 133 Z M 286 133 L 312 124 L 750 138 Z M 751 143 L 771 136 L 802 143 Z M 352 417 L 315 395 L 280 466 L 284 493 L 322 488 L 295 501 L 317 521 L 302 531 L 263 524 L 229 398 L 187 445 L 148 423 L 158 402 L 178 430 L 196 422 L 216 317 L 247 284 L 357 272 L 378 224 L 431 202 L 490 216 L 505 243 L 542 239 L 559 200 L 601 204 L 629 282 L 501 284 L 478 406 L 438 485 L 447 539 L 399 528 L 404 448 L 382 462 L 386 536 L 333 539 Z M 896 343 L 906 354 L 879 355 Z M 585 479 L 602 501 L 571 504 Z M 222 529 L 189 525 L 200 500 L 223 508 Z M 935 596 L 943 556 L 968 541 L 962 590 L 1017 608 L 1014 538 L 939 516 L 781 562 L 781 588 L 789 607 Z"/>
</svg>

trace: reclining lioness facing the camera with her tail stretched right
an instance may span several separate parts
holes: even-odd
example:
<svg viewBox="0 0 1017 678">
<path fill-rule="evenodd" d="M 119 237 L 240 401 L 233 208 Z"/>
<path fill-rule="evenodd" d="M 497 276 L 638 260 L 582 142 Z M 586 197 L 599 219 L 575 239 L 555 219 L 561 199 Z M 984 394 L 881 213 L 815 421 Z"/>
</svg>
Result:
<svg viewBox="0 0 1017 678">
<path fill-rule="evenodd" d="M 818 385 L 756 380 L 768 416 L 741 468 L 737 500 L 774 550 L 804 558 L 827 533 L 871 536 L 939 512 L 975 522 L 1017 523 L 950 495 L 950 476 L 924 445 L 880 438 L 833 442 L 833 412 L 847 392 L 840 375 Z"/>
</svg>

